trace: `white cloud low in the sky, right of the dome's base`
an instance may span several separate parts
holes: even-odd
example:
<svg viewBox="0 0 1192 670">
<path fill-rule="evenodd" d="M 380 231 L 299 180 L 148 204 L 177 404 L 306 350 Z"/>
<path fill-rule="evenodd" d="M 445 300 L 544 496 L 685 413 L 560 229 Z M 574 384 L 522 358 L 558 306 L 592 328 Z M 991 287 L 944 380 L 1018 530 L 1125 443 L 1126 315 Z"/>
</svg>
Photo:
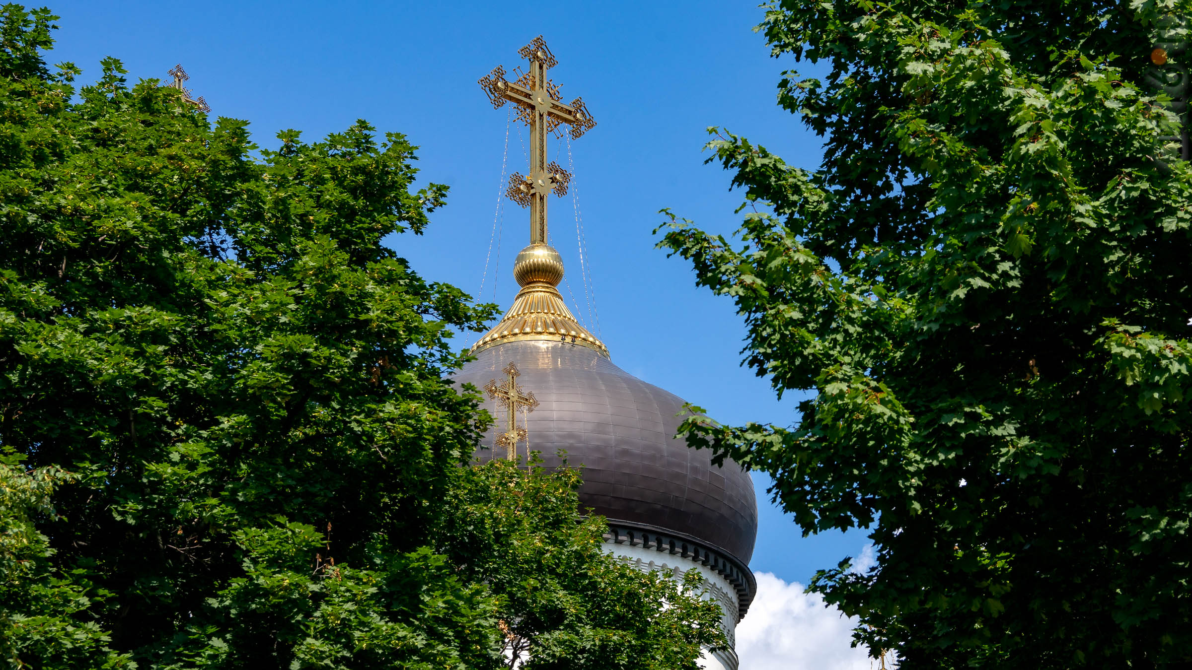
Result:
<svg viewBox="0 0 1192 670">
<path fill-rule="evenodd" d="M 873 560 L 873 547 L 869 547 Z M 865 552 L 862 551 L 863 560 Z M 805 594 L 799 582 L 787 583 L 758 572 L 757 596 L 737 626 L 740 670 L 870 670 L 877 664 L 862 647 L 853 649 L 855 619 L 825 608 L 819 594 Z"/>
</svg>

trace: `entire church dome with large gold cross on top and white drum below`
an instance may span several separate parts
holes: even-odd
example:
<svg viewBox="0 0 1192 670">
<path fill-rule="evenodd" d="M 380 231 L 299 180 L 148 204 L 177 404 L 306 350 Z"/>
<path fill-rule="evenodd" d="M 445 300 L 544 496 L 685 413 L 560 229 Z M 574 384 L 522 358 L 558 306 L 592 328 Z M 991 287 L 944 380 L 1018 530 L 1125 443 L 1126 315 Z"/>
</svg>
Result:
<svg viewBox="0 0 1192 670">
<path fill-rule="evenodd" d="M 563 302 L 563 260 L 546 243 L 546 211 L 551 193 L 567 194 L 572 175 L 546 161 L 547 136 L 570 126 L 577 139 L 596 122 L 581 98 L 563 104 L 547 77 L 558 61 L 541 36 L 517 54 L 529 70 L 516 81 L 498 66 L 478 82 L 493 107 L 514 104 L 529 126 L 529 174 L 510 174 L 505 197 L 529 209 L 530 244 L 514 262 L 521 291 L 513 306 L 453 376 L 484 389 L 503 424 L 477 457 L 536 451 L 547 466 L 564 458 L 583 466 L 579 503 L 608 520 L 608 552 L 676 578 L 697 571 L 701 597 L 719 603 L 728 643 L 703 650 L 700 666 L 737 670 L 737 622 L 757 590 L 749 570 L 757 538 L 753 484 L 735 463 L 715 466 L 709 452 L 676 439 L 683 401 L 613 365 L 604 343 Z"/>
</svg>

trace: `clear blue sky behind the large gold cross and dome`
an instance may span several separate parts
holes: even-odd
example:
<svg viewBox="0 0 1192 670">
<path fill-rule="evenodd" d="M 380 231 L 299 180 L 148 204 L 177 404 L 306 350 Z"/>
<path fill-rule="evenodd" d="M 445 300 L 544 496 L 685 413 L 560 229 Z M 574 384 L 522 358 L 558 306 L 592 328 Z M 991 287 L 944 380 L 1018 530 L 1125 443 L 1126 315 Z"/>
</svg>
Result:
<svg viewBox="0 0 1192 670">
<path fill-rule="evenodd" d="M 743 327 L 732 304 L 697 290 L 690 267 L 654 249 L 651 232 L 662 207 L 715 232 L 737 228 L 740 198 L 728 191 L 730 175 L 703 165 L 707 126 L 750 137 L 794 165 L 819 163 L 820 138 L 775 104 L 782 70 L 796 63 L 769 56 L 752 31 L 764 15 L 755 2 L 60 0 L 50 8 L 62 17 L 50 62 L 75 62 L 85 82 L 104 56 L 124 61 L 131 81 L 164 79 L 181 63 L 212 116 L 250 120 L 261 145 L 274 147 L 283 129 L 316 139 L 358 118 L 405 134 L 421 145 L 422 180 L 451 193 L 426 235 L 389 242 L 432 280 L 476 294 L 483 279 L 483 298 L 502 306 L 516 292 L 510 260 L 528 242 L 528 216 L 508 203 L 498 216 L 498 182 L 505 155 L 507 172 L 526 172 L 528 136 L 507 124 L 509 106 L 489 105 L 476 80 L 497 64 L 513 70 L 517 49 L 541 33 L 559 60 L 551 76 L 564 99 L 582 95 L 598 124 L 571 143 L 570 157 L 592 315 L 613 361 L 725 423 L 794 421 L 797 398 L 776 401 L 765 380 L 739 366 Z M 566 167 L 566 143 L 552 138 L 551 156 Z M 575 204 L 557 198 L 550 207 L 573 311 L 595 322 Z M 490 244 L 495 218 L 499 244 Z M 802 538 L 769 503 L 765 480 L 755 483 L 755 571 L 806 583 L 867 544 L 861 532 Z"/>
</svg>

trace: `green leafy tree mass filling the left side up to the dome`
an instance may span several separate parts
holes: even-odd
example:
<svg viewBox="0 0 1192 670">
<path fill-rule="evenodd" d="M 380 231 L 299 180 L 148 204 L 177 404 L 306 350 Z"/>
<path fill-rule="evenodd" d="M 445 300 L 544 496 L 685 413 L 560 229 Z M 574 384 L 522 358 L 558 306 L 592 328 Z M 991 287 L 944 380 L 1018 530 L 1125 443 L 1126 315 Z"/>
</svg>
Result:
<svg viewBox="0 0 1192 670">
<path fill-rule="evenodd" d="M 411 190 L 415 147 L 358 122 L 260 149 L 113 58 L 76 91 L 42 58 L 54 20 L 0 7 L 0 656 L 483 669 L 522 626 L 539 666 L 548 639 L 582 656 L 611 631 L 694 668 L 707 608 L 600 551 L 573 474 L 462 467 L 491 420 L 445 377 L 449 337 L 495 309 L 381 244 L 443 204 Z M 464 551 L 453 515 L 497 483 L 541 504 L 490 542 L 565 560 Z M 523 624 L 536 583 L 635 619 Z"/>
</svg>

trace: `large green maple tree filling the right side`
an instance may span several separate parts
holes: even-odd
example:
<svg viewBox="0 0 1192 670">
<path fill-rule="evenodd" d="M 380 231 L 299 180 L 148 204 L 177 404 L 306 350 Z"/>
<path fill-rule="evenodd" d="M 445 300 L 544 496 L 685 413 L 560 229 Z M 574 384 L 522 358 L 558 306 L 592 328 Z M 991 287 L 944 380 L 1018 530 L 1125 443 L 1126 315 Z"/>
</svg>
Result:
<svg viewBox="0 0 1192 670">
<path fill-rule="evenodd" d="M 801 420 L 691 420 L 805 533 L 877 565 L 812 590 L 907 668 L 1150 668 L 1192 649 L 1192 170 L 1141 88 L 1184 0 L 789 0 L 778 103 L 818 169 L 710 143 L 752 206 L 660 247 L 737 304 Z M 1162 66 L 1177 74 L 1187 55 Z M 1161 58 L 1160 58 L 1161 60 Z M 1186 69 L 1184 70 L 1186 72 Z"/>
</svg>

